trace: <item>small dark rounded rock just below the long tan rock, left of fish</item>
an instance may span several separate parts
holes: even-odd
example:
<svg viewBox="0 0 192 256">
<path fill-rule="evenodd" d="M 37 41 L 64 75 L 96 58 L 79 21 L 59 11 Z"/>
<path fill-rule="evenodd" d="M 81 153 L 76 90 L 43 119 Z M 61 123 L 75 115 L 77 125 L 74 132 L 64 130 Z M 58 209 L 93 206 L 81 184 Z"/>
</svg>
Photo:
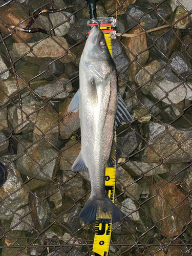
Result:
<svg viewBox="0 0 192 256">
<path fill-rule="evenodd" d="M 60 60 L 55 60 L 53 63 L 51 63 L 52 61 L 52 59 L 48 59 L 39 66 L 39 73 L 48 70 L 40 75 L 41 80 L 52 81 L 55 79 L 54 76 L 59 77 L 60 75 L 62 75 L 62 73 L 64 73 L 65 66 L 63 65 L 63 63 Z M 49 65 L 49 63 L 51 64 Z"/>
</svg>

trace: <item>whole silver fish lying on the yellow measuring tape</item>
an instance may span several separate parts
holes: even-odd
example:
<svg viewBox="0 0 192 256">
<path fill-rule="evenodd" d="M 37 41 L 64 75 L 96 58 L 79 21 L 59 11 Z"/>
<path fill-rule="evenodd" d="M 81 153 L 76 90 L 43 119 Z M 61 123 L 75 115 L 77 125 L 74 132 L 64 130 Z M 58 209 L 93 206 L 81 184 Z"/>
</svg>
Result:
<svg viewBox="0 0 192 256">
<path fill-rule="evenodd" d="M 79 62 L 79 90 L 68 112 L 79 110 L 81 151 L 72 170 L 89 171 L 91 195 L 80 212 L 84 224 L 96 220 L 97 209 L 112 212 L 113 222 L 123 218 L 105 190 L 105 167 L 121 152 L 114 139 L 114 127 L 133 118 L 118 93 L 116 66 L 103 32 L 94 26 L 88 36 Z"/>
</svg>

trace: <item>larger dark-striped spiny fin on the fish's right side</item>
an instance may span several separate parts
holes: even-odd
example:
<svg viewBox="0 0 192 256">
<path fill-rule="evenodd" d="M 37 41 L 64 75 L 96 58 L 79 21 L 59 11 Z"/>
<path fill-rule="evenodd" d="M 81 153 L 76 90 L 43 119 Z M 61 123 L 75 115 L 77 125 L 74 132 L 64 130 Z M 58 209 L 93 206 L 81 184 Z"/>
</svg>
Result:
<svg viewBox="0 0 192 256">
<path fill-rule="evenodd" d="M 131 112 L 127 108 L 124 100 L 121 98 L 121 95 L 119 93 L 115 125 L 119 126 L 122 122 L 130 123 L 132 121 L 134 120 L 133 120 L 133 117 L 131 116 Z"/>
</svg>

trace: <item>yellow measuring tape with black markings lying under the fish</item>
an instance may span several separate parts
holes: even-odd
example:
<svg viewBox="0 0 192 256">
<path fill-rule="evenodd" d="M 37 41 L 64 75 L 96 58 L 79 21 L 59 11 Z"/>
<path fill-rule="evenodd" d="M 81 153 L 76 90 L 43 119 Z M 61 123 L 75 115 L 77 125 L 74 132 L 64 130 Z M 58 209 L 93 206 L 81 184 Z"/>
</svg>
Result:
<svg viewBox="0 0 192 256">
<path fill-rule="evenodd" d="M 103 18 L 97 18 L 102 19 Z M 109 51 L 112 56 L 112 42 L 111 38 L 114 38 L 115 31 L 111 27 L 115 27 L 115 19 L 113 17 L 106 17 L 106 23 L 100 23 L 100 29 L 103 31 L 106 44 L 108 45 Z M 109 20 L 110 19 L 110 20 Z M 113 20 L 111 20 L 113 19 Z M 111 23 L 109 23 L 109 21 Z M 91 24 L 90 24 L 91 25 Z M 95 24 L 92 24 L 95 26 Z M 113 56 L 112 56 L 113 57 Z M 115 131 L 115 141 L 116 141 L 116 131 Z M 106 191 L 114 203 L 115 197 L 115 177 L 116 177 L 116 160 L 113 162 L 112 167 L 105 168 L 105 188 Z M 111 230 L 112 230 L 112 214 L 109 213 L 109 219 L 102 218 L 102 209 L 97 210 L 96 221 L 95 221 L 95 237 L 93 243 L 92 256 L 108 256 L 110 240 L 111 240 Z"/>
</svg>

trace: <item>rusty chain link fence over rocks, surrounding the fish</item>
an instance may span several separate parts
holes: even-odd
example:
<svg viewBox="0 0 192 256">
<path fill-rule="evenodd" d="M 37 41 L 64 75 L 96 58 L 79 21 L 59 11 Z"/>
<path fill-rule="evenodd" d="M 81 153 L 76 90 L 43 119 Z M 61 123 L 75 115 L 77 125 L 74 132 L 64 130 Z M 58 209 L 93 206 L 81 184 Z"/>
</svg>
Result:
<svg viewBox="0 0 192 256">
<path fill-rule="evenodd" d="M 67 112 L 86 2 L 0 4 L 1 255 L 91 255 L 94 224 L 79 220 L 90 180 L 71 170 L 80 121 Z M 97 2 L 99 17 L 117 18 L 113 58 L 134 117 L 117 129 L 115 204 L 124 218 L 113 224 L 109 255 L 191 255 L 190 14 L 177 0 Z"/>
</svg>

